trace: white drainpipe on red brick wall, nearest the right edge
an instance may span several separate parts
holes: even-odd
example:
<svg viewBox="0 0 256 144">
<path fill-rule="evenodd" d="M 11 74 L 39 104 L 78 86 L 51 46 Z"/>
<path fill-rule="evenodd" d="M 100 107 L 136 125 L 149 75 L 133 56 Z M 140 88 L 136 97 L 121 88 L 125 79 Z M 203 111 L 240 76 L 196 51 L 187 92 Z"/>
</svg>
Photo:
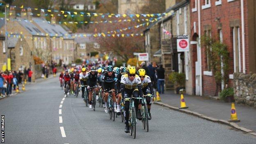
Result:
<svg viewBox="0 0 256 144">
<path fill-rule="evenodd" d="M 242 59 L 243 73 L 245 73 L 245 15 L 244 15 L 244 0 L 241 0 L 241 17 L 242 17 Z"/>
</svg>

